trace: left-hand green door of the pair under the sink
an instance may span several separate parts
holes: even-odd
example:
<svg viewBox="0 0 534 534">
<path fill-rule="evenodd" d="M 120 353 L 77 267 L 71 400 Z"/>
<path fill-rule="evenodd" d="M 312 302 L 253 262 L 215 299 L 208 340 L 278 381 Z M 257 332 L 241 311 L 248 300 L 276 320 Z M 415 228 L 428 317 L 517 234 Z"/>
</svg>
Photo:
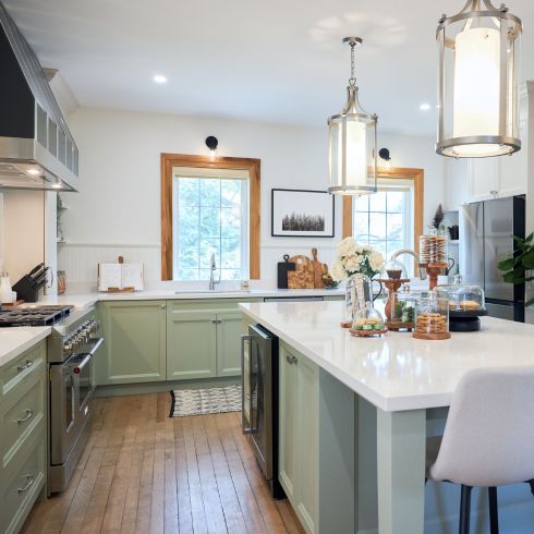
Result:
<svg viewBox="0 0 534 534">
<path fill-rule="evenodd" d="M 217 376 L 217 315 L 175 311 L 167 324 L 167 379 Z"/>
</svg>

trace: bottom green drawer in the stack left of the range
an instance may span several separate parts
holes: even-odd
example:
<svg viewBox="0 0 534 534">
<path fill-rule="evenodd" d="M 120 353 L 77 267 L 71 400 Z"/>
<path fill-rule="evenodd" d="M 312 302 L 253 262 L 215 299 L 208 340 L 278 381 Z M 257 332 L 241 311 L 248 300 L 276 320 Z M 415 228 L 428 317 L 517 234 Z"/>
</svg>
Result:
<svg viewBox="0 0 534 534">
<path fill-rule="evenodd" d="M 19 532 L 45 485 L 45 426 L 24 444 L 12 465 L 1 472 L 0 531 Z"/>
</svg>

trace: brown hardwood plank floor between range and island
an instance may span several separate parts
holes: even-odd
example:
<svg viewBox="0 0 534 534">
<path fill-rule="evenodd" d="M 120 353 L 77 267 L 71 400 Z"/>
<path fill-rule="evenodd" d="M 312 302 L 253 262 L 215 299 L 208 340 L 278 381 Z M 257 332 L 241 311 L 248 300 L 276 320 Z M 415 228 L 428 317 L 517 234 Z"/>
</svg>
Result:
<svg viewBox="0 0 534 534">
<path fill-rule="evenodd" d="M 170 418 L 169 393 L 96 399 L 66 491 L 36 505 L 22 532 L 302 533 L 270 498 L 239 414 Z"/>
</svg>

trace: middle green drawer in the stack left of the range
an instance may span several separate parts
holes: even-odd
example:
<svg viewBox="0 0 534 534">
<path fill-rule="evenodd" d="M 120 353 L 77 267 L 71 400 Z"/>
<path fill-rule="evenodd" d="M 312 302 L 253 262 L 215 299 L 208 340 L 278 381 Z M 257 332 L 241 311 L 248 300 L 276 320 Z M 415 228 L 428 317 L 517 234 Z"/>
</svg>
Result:
<svg viewBox="0 0 534 534">
<path fill-rule="evenodd" d="M 2 466 L 11 459 L 32 432 L 45 418 L 45 371 L 27 377 L 21 385 L 4 397 L 1 414 L 1 459 Z"/>
</svg>

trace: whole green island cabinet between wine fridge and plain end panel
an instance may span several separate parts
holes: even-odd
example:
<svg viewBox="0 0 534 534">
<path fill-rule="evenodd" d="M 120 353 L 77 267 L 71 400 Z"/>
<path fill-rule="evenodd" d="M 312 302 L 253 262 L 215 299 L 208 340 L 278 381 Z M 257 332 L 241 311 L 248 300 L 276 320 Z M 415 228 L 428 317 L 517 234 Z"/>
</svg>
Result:
<svg viewBox="0 0 534 534">
<path fill-rule="evenodd" d="M 302 525 L 317 532 L 318 367 L 283 343 L 279 365 L 279 481 Z"/>
</svg>

